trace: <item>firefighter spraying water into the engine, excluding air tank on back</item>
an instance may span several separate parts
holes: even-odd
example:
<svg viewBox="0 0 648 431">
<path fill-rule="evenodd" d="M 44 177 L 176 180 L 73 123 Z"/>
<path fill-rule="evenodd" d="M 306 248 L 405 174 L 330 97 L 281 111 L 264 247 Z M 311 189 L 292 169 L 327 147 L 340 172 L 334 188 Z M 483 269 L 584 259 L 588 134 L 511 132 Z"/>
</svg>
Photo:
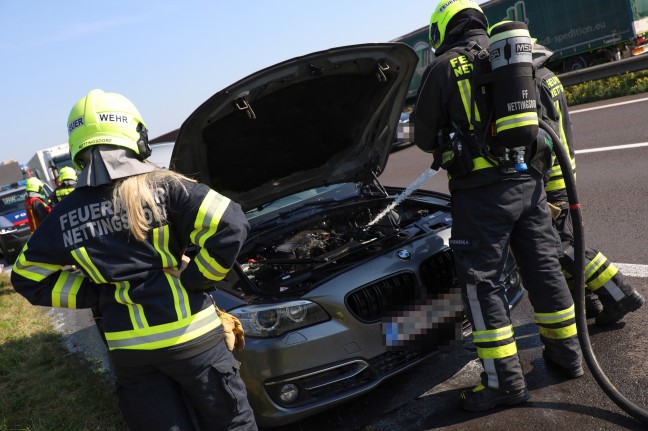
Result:
<svg viewBox="0 0 648 431">
<path fill-rule="evenodd" d="M 484 157 L 474 137 L 472 116 L 480 115 L 471 107 L 474 63 L 458 48 L 472 42 L 488 47 L 487 28 L 486 16 L 471 0 L 437 5 L 430 19 L 434 59 L 423 74 L 413 112 L 416 145 L 433 153 L 433 168 L 448 170 L 449 242 L 483 365 L 481 382 L 461 393 L 469 411 L 529 399 L 502 285 L 509 250 L 534 308 L 545 361 L 569 378 L 584 373 L 574 302 L 558 262 L 559 238 L 551 225 L 542 173 L 503 169 Z"/>
</svg>

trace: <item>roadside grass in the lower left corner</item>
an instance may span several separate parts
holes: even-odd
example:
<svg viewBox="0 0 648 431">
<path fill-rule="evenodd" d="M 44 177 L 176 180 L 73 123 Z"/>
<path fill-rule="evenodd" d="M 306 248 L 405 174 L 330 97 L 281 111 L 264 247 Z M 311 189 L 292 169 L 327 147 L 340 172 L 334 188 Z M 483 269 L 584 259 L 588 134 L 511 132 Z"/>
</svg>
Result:
<svg viewBox="0 0 648 431">
<path fill-rule="evenodd" d="M 113 384 L 0 275 L 0 431 L 126 430 Z"/>
</svg>

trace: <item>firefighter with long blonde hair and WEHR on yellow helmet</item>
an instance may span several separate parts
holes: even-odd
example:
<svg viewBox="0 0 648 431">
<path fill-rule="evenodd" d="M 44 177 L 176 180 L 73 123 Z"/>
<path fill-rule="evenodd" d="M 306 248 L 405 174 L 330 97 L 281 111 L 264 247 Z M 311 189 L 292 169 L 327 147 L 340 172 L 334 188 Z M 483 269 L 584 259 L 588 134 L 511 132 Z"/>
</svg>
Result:
<svg viewBox="0 0 648 431">
<path fill-rule="evenodd" d="M 256 430 L 208 293 L 249 232 L 241 207 L 146 162 L 144 121 L 120 94 L 91 90 L 68 133 L 77 188 L 18 257 L 15 290 L 35 305 L 99 308 L 131 429 Z M 190 243 L 193 259 L 183 257 Z"/>
</svg>

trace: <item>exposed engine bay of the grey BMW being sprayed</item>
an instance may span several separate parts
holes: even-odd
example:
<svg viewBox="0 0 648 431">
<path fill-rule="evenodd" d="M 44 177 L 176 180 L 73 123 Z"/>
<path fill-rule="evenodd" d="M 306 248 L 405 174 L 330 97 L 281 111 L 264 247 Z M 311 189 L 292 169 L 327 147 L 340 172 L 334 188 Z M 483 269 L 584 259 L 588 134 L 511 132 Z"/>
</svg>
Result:
<svg viewBox="0 0 648 431">
<path fill-rule="evenodd" d="M 404 228 L 429 215 L 401 204 L 368 227 L 389 201 L 346 205 L 255 235 L 239 255 L 241 269 L 262 293 L 309 289 L 338 271 L 397 247 Z"/>
</svg>

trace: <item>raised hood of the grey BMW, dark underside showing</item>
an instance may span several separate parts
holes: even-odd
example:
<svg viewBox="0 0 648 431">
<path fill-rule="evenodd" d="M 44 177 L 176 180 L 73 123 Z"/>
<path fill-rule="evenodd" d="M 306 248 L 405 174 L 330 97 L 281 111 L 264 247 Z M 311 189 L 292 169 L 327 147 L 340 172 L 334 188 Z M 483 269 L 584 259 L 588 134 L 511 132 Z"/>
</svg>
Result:
<svg viewBox="0 0 648 431">
<path fill-rule="evenodd" d="M 245 211 L 387 163 L 418 57 L 402 43 L 296 57 L 219 91 L 182 124 L 172 169 Z"/>
</svg>

